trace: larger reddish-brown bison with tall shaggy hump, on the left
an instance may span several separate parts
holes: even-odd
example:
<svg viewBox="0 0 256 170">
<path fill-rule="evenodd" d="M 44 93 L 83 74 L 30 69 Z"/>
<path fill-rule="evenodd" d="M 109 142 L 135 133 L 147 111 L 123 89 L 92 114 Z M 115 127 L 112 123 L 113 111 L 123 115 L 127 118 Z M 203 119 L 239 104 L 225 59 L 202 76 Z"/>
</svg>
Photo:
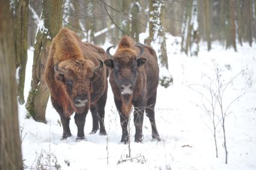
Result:
<svg viewBox="0 0 256 170">
<path fill-rule="evenodd" d="M 47 58 L 45 79 L 53 107 L 61 118 L 62 139 L 71 136 L 70 115 L 75 114 L 77 139 L 84 139 L 85 117 L 90 109 L 93 130 L 100 124 L 100 135 L 106 135 L 104 126 L 108 91 L 108 68 L 103 65 L 105 50 L 90 43 L 82 43 L 75 32 L 60 29 L 52 41 Z"/>
</svg>

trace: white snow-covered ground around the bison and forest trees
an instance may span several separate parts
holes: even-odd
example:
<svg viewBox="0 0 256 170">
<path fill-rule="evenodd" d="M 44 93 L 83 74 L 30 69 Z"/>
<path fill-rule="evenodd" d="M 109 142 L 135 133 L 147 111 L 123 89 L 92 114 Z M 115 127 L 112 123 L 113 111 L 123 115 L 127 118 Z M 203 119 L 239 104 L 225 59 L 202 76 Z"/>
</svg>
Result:
<svg viewBox="0 0 256 170">
<path fill-rule="evenodd" d="M 152 141 L 150 121 L 144 117 L 142 144 L 134 142 L 135 127 L 131 124 L 132 159 L 127 158 L 128 145 L 120 144 L 120 120 L 109 88 L 105 108 L 108 136 L 100 136 L 99 132 L 89 134 L 92 119 L 88 113 L 85 123 L 86 141 L 76 141 L 77 129 L 73 117 L 70 121 L 73 136 L 61 140 L 59 115 L 50 101 L 46 109 L 47 124 L 25 118 L 25 106 L 19 106 L 22 153 L 26 168 L 256 169 L 256 49 L 244 44 L 238 47 L 238 52 L 234 52 L 233 49 L 224 50 L 219 43 L 213 43 L 213 49 L 207 52 L 206 44 L 201 43 L 199 56 L 189 58 L 180 53 L 180 44 L 175 41 L 179 42 L 180 38 L 167 37 L 169 71 L 174 77 L 174 84 L 168 88 L 159 86 L 157 90 L 156 124 L 161 142 Z M 109 45 L 106 43 L 103 48 Z M 25 98 L 30 88 L 32 55 L 32 49 L 28 50 Z M 216 127 L 219 152 L 216 158 L 212 121 L 200 109 L 203 106 L 210 107 L 206 100 L 210 93 L 204 89 L 211 80 L 216 84 L 215 68 L 218 68 L 220 81 L 224 85 L 237 76 L 224 90 L 224 110 L 242 95 L 228 108 L 229 115 L 225 118 L 228 164 L 225 164 L 221 124 Z M 219 120 L 221 113 L 217 107 L 216 119 Z"/>
</svg>

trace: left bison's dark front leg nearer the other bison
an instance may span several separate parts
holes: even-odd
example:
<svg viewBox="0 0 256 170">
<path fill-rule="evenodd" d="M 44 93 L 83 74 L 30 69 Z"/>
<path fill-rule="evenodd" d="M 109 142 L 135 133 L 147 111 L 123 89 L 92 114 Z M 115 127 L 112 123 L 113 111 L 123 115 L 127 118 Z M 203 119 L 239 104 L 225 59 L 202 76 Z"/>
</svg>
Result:
<svg viewBox="0 0 256 170">
<path fill-rule="evenodd" d="M 84 126 L 85 126 L 85 118 L 87 115 L 87 111 L 84 111 L 82 114 L 77 114 L 75 115 L 75 123 L 76 126 L 78 127 L 78 136 L 76 136 L 76 139 L 85 139 L 85 133 L 84 133 Z"/>
</svg>

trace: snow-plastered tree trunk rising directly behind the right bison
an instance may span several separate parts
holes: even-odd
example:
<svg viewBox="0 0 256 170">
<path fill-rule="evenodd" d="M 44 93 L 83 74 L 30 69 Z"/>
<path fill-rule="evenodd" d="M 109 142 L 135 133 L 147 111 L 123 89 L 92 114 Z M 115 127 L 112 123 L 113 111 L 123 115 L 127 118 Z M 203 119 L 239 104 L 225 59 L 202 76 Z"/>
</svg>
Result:
<svg viewBox="0 0 256 170">
<path fill-rule="evenodd" d="M 163 1 L 152 0 L 149 2 L 149 39 L 150 46 L 159 44 L 158 58 L 161 65 L 161 85 L 168 87 L 172 83 L 172 77 L 168 71 L 168 58 L 166 52 L 166 38 L 163 29 Z"/>
</svg>

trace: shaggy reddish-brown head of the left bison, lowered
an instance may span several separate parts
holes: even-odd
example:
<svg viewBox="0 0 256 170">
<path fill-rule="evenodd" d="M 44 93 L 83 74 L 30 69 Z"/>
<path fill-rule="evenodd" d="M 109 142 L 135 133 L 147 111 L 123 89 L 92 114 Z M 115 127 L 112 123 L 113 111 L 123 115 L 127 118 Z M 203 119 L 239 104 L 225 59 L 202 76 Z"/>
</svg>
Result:
<svg viewBox="0 0 256 170">
<path fill-rule="evenodd" d="M 69 100 L 76 112 L 84 112 L 85 108 L 89 108 L 90 94 L 93 91 L 91 80 L 95 72 L 103 67 L 100 61 L 97 67 L 93 62 L 88 60 L 76 59 L 66 60 L 55 64 L 55 78 L 61 83 Z"/>
</svg>

